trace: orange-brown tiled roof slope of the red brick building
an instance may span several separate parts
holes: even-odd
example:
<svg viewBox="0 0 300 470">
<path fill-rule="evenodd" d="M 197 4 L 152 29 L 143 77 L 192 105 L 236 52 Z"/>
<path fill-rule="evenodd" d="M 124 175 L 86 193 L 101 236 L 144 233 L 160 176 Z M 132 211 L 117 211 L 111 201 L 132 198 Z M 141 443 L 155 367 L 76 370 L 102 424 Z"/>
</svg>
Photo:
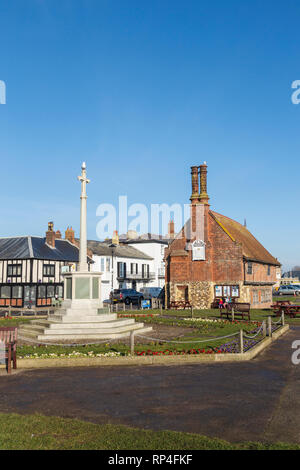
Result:
<svg viewBox="0 0 300 470">
<path fill-rule="evenodd" d="M 217 212 L 210 211 L 210 214 L 233 241 L 242 245 L 243 256 L 246 259 L 280 266 L 280 262 L 256 240 L 244 225 Z"/>
</svg>

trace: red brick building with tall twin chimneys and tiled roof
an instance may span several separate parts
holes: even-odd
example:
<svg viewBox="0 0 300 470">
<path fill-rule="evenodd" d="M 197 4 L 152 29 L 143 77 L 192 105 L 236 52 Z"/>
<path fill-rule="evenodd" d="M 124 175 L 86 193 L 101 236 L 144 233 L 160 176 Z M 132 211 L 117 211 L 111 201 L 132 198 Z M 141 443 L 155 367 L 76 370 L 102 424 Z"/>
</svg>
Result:
<svg viewBox="0 0 300 470">
<path fill-rule="evenodd" d="M 165 261 L 166 303 L 189 300 L 201 309 L 227 296 L 252 308 L 270 307 L 280 266 L 245 226 L 210 209 L 206 163 L 192 167 L 191 217 Z"/>
</svg>

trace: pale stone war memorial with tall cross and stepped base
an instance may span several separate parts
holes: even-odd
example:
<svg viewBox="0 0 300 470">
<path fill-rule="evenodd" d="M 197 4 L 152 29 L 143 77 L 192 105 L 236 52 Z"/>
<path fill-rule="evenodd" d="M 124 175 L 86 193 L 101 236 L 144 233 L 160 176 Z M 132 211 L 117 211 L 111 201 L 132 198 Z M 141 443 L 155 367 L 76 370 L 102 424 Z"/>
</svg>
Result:
<svg viewBox="0 0 300 470">
<path fill-rule="evenodd" d="M 86 164 L 81 167 L 80 245 L 78 270 L 64 274 L 64 300 L 62 307 L 47 320 L 32 320 L 23 325 L 20 335 L 26 339 L 43 340 L 97 340 L 117 339 L 152 330 L 134 319 L 118 319 L 117 314 L 103 308 L 101 273 L 89 271 L 87 257 L 87 184 Z"/>
</svg>

